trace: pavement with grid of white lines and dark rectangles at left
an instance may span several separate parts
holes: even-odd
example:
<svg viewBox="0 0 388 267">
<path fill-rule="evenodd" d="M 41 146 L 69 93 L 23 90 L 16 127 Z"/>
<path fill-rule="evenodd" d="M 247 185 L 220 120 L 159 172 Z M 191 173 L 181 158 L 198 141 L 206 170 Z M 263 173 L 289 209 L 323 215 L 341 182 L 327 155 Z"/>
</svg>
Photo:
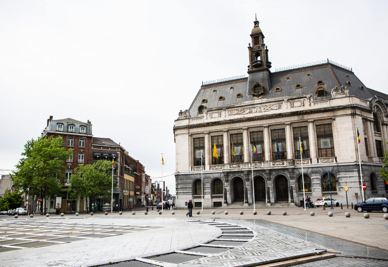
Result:
<svg viewBox="0 0 388 267">
<path fill-rule="evenodd" d="M 0 252 L 129 234 L 154 228 L 156 227 L 133 225 L 113 227 L 112 224 L 42 220 L 12 221 L 0 225 Z"/>
</svg>

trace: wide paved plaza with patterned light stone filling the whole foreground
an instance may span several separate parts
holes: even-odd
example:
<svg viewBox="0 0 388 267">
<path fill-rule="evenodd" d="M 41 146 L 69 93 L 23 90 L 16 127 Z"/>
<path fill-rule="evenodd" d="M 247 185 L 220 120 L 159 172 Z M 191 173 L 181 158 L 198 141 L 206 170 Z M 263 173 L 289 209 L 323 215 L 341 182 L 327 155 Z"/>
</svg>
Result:
<svg viewBox="0 0 388 267">
<path fill-rule="evenodd" d="M 339 207 L 268 207 L 257 215 L 251 207 L 197 211 L 191 218 L 186 210 L 145 215 L 145 208 L 122 215 L 1 216 L 0 266 L 388 266 L 388 220 L 381 212 L 365 219 Z"/>
</svg>

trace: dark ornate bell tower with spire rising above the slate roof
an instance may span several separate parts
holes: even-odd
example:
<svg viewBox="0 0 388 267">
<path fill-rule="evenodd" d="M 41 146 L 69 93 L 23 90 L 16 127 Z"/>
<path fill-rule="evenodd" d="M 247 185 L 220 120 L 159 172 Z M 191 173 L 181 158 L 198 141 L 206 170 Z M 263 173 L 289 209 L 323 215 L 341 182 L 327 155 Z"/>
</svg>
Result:
<svg viewBox="0 0 388 267">
<path fill-rule="evenodd" d="M 249 44 L 249 66 L 248 73 L 268 70 L 271 68 L 271 62 L 268 60 L 268 49 L 264 44 L 264 34 L 261 32 L 259 27 L 259 21 L 257 16 L 256 20 L 253 22 L 254 26 L 252 33 L 250 34 L 252 38 L 252 46 Z"/>
</svg>

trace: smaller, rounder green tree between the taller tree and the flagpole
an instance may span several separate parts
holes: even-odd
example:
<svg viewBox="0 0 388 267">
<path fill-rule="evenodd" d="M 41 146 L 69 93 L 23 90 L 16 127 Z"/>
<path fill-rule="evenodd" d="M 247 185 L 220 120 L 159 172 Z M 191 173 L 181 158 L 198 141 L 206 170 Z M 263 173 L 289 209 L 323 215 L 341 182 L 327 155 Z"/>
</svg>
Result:
<svg viewBox="0 0 388 267">
<path fill-rule="evenodd" d="M 112 190 L 112 163 L 106 160 L 99 160 L 94 164 L 80 165 L 70 176 L 71 186 L 67 189 L 70 197 L 77 196 L 93 200 L 97 196 L 107 196 Z M 113 184 L 115 186 L 115 183 Z"/>
</svg>

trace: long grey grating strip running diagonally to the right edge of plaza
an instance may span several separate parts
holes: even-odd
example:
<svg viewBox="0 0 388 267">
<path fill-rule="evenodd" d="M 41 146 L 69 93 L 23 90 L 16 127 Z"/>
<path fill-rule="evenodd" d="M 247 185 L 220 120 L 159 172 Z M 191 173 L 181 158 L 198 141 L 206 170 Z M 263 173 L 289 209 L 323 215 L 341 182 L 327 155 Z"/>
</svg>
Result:
<svg viewBox="0 0 388 267">
<path fill-rule="evenodd" d="M 340 240 L 335 237 L 326 236 L 323 234 L 315 234 L 305 230 L 296 229 L 290 226 L 280 225 L 269 221 L 251 220 L 250 222 L 254 223 L 255 225 L 271 229 L 278 233 L 287 234 L 292 237 L 306 240 L 308 242 L 320 245 L 327 249 L 339 251 L 344 255 L 388 259 L 388 251 L 374 249 L 364 245 Z"/>
</svg>

